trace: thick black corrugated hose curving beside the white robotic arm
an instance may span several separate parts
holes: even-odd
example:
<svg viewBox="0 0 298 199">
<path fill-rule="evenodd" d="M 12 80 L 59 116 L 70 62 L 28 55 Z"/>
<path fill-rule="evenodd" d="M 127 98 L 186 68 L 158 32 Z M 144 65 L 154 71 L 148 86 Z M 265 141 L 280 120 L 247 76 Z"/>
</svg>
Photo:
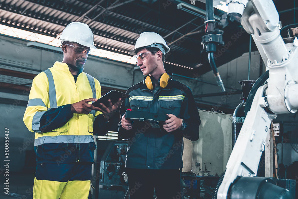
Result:
<svg viewBox="0 0 298 199">
<path fill-rule="evenodd" d="M 262 86 L 268 78 L 269 78 L 269 70 L 267 70 L 266 72 L 263 72 L 263 74 L 257 79 L 257 81 L 252 86 L 252 89 L 250 90 L 250 92 L 248 94 L 246 104 L 245 104 L 245 109 L 244 109 L 245 116 L 246 116 L 247 112 L 249 112 L 249 110 L 252 106 L 252 101 L 254 100 L 254 95 L 256 94 L 258 88 L 260 86 Z"/>
</svg>

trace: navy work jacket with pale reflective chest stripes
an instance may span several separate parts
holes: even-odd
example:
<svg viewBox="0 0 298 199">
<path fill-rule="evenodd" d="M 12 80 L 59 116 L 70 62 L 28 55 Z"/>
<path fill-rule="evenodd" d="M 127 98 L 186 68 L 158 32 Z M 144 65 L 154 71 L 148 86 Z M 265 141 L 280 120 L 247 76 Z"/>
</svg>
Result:
<svg viewBox="0 0 298 199">
<path fill-rule="evenodd" d="M 156 93 L 143 82 L 130 87 L 130 97 L 120 107 L 120 116 L 130 108 L 132 111 L 173 114 L 183 119 L 187 127 L 181 131 L 166 132 L 163 128 L 152 128 L 149 122 L 138 122 L 133 128 L 118 125 L 119 136 L 128 139 L 126 168 L 136 169 L 177 169 L 182 167 L 183 136 L 196 141 L 199 138 L 200 116 L 190 88 L 172 80 Z"/>
</svg>

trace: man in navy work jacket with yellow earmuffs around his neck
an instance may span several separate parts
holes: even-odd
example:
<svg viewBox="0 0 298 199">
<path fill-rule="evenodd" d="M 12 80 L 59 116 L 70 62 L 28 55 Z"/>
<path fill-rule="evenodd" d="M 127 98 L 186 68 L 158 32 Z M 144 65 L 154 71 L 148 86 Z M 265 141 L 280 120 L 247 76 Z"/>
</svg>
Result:
<svg viewBox="0 0 298 199">
<path fill-rule="evenodd" d="M 159 199 L 172 199 L 181 194 L 183 136 L 192 141 L 199 138 L 200 116 L 190 88 L 173 80 L 164 69 L 164 55 L 170 48 L 157 33 L 145 32 L 136 41 L 137 65 L 144 81 L 130 87 L 130 97 L 122 102 L 118 133 L 129 139 L 126 155 L 131 199 L 152 199 L 155 189 Z M 167 114 L 161 128 L 149 122 L 131 123 L 125 111 Z"/>
</svg>

